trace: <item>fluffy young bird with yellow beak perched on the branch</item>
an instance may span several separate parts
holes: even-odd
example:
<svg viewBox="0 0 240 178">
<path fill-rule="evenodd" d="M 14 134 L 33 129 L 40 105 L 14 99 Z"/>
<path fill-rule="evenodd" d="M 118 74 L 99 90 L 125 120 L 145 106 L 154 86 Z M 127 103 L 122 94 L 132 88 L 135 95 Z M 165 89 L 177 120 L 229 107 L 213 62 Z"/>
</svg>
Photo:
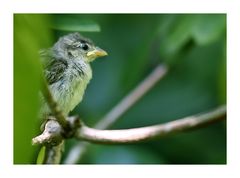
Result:
<svg viewBox="0 0 240 178">
<path fill-rule="evenodd" d="M 49 49 L 40 51 L 43 74 L 53 99 L 67 116 L 83 99 L 92 78 L 90 63 L 107 52 L 80 33 L 62 36 Z M 41 118 L 51 115 L 48 103 L 41 96 Z"/>
</svg>

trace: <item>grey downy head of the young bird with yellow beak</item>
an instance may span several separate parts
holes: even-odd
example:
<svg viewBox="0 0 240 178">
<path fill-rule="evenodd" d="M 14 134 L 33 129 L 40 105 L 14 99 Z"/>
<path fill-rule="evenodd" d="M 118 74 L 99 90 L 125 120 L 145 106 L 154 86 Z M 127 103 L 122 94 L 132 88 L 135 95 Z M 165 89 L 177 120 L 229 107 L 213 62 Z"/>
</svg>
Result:
<svg viewBox="0 0 240 178">
<path fill-rule="evenodd" d="M 91 62 L 94 59 L 106 56 L 107 52 L 94 45 L 94 43 L 81 36 L 79 33 L 71 33 L 61 37 L 53 47 L 57 56 L 65 59 L 81 59 Z"/>
</svg>

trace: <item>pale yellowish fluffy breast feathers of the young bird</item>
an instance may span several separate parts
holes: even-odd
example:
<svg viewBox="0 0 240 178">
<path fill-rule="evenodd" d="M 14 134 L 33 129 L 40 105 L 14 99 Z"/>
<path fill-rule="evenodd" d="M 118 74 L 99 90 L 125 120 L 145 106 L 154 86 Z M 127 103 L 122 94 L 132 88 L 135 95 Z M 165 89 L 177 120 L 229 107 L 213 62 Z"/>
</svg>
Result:
<svg viewBox="0 0 240 178">
<path fill-rule="evenodd" d="M 53 97 L 63 113 L 68 114 L 81 102 L 91 78 L 90 65 L 84 61 L 74 61 L 68 64 L 61 80 L 50 85 Z"/>
</svg>

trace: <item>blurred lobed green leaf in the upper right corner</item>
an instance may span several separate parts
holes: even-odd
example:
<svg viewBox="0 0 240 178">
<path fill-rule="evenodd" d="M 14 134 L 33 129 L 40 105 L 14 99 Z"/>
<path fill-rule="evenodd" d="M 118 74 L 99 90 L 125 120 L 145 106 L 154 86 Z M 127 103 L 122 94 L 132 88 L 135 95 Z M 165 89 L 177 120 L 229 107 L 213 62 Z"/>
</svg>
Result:
<svg viewBox="0 0 240 178">
<path fill-rule="evenodd" d="M 222 37 L 226 28 L 225 15 L 222 14 L 184 14 L 173 17 L 168 20 L 164 30 L 160 30 L 160 56 L 168 64 L 176 63 L 182 57 L 184 48 L 192 46 L 191 39 L 197 45 L 207 45 Z"/>
</svg>

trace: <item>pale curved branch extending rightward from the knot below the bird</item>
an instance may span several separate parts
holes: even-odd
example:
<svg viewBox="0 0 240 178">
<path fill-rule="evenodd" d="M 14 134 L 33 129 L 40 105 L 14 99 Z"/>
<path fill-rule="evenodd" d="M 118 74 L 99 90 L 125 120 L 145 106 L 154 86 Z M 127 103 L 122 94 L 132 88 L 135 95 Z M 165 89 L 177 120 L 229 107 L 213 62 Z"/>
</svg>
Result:
<svg viewBox="0 0 240 178">
<path fill-rule="evenodd" d="M 193 115 L 168 123 L 141 128 L 98 130 L 82 125 L 78 129 L 75 138 L 89 142 L 106 144 L 134 143 L 150 140 L 156 137 L 163 137 L 179 131 L 194 129 L 225 118 L 226 106 L 221 106 L 208 113 Z"/>
</svg>

